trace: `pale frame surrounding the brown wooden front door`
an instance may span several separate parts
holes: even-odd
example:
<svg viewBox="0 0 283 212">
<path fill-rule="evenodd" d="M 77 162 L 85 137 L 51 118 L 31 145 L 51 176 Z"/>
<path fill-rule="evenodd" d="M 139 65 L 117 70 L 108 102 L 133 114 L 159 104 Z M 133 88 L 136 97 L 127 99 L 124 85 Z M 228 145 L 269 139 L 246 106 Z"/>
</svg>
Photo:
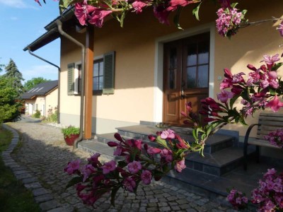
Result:
<svg viewBox="0 0 283 212">
<path fill-rule="evenodd" d="M 209 97 L 214 97 L 215 23 L 200 25 L 171 35 L 158 37 L 155 42 L 154 122 L 163 122 L 163 44 L 185 37 L 210 32 L 209 38 Z"/>
</svg>

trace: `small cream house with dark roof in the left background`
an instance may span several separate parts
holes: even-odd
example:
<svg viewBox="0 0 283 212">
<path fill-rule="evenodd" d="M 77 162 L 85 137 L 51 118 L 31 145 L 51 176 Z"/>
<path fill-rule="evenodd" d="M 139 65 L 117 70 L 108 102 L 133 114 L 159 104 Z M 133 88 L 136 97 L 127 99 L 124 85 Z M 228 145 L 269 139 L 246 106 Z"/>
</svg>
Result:
<svg viewBox="0 0 283 212">
<path fill-rule="evenodd" d="M 58 81 L 39 83 L 21 95 L 25 101 L 25 114 L 34 114 L 37 110 L 47 117 L 48 111 L 58 106 Z"/>
</svg>

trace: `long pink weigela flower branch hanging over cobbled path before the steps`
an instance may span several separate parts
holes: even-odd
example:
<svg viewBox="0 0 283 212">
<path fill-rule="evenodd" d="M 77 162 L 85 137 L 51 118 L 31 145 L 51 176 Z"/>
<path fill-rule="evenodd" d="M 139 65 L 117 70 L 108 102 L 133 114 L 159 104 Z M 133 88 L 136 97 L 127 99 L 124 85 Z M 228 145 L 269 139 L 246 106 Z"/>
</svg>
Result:
<svg viewBox="0 0 283 212">
<path fill-rule="evenodd" d="M 157 136 L 149 136 L 161 148 L 149 146 L 139 139 L 123 139 L 115 134 L 117 141 L 108 142 L 115 147 L 114 155 L 124 159 L 100 163 L 100 154 L 88 158 L 88 164 L 80 167 L 80 160 L 68 163 L 64 171 L 69 175 L 79 175 L 71 180 L 68 187 L 76 185 L 78 196 L 84 204 L 93 205 L 103 194 L 112 192 L 114 205 L 117 189 L 135 192 L 139 182 L 150 184 L 152 179 L 161 179 L 171 169 L 182 172 L 185 169 L 185 155 L 191 151 L 190 145 L 171 129 L 158 131 Z"/>
</svg>

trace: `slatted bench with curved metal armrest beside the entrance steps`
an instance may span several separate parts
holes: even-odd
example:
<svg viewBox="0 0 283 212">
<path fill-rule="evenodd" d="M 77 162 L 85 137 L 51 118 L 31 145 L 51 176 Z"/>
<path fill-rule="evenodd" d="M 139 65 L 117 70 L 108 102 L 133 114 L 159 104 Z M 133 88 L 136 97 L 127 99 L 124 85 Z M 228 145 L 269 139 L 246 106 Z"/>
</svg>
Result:
<svg viewBox="0 0 283 212">
<path fill-rule="evenodd" d="M 253 129 L 254 126 L 258 126 L 257 137 L 252 140 L 249 140 L 250 131 Z M 258 118 L 258 124 L 251 124 L 248 127 L 246 132 L 245 140 L 243 143 L 243 169 L 247 170 L 247 163 L 248 163 L 248 145 L 256 146 L 256 158 L 257 162 L 260 161 L 260 147 L 270 147 L 270 148 L 279 148 L 269 143 L 263 139 L 263 136 L 266 136 L 271 131 L 276 131 L 277 129 L 283 128 L 283 114 L 279 113 L 261 113 L 260 117 Z"/>
</svg>

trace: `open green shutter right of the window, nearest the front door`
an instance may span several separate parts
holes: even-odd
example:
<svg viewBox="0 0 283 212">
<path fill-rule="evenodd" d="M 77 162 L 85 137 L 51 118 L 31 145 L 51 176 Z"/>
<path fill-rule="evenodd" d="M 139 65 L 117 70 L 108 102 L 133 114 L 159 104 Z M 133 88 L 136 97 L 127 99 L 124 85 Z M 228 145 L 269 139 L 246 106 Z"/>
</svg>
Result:
<svg viewBox="0 0 283 212">
<path fill-rule="evenodd" d="M 103 94 L 114 93 L 115 52 L 108 52 L 103 57 Z"/>
</svg>

